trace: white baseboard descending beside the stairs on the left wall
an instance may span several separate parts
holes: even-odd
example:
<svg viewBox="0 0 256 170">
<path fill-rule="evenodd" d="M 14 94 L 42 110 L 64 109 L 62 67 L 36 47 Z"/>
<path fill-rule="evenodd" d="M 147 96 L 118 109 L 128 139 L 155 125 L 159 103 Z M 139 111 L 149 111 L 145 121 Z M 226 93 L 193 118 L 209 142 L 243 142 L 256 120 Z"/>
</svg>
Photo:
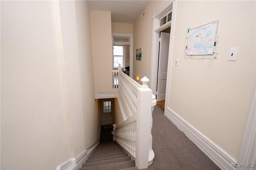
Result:
<svg viewBox="0 0 256 170">
<path fill-rule="evenodd" d="M 82 151 L 80 154 L 76 155 L 75 158 L 69 158 L 68 160 L 59 164 L 56 170 L 77 170 L 78 168 L 82 167 L 82 164 L 85 162 L 86 159 L 92 154 L 94 149 L 98 146 L 100 142 L 97 141 L 88 149 Z"/>
</svg>

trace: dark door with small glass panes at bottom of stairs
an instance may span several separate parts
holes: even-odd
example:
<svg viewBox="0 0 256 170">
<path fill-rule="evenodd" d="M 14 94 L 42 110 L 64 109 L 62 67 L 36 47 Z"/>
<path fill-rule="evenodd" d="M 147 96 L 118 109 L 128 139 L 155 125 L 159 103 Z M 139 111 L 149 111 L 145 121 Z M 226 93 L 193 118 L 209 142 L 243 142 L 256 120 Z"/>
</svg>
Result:
<svg viewBox="0 0 256 170">
<path fill-rule="evenodd" d="M 113 124 L 113 111 L 114 111 L 113 99 L 101 99 L 100 100 L 100 119 L 101 125 Z"/>
</svg>

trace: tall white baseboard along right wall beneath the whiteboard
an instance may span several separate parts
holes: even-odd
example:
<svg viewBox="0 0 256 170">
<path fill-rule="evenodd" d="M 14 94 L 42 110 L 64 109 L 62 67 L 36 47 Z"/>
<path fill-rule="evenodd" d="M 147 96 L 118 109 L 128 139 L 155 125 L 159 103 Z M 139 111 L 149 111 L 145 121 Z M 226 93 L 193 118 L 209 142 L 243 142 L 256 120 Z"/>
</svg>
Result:
<svg viewBox="0 0 256 170">
<path fill-rule="evenodd" d="M 190 125 L 172 109 L 167 107 L 166 117 L 178 127 L 183 133 L 190 138 L 209 158 L 211 158 L 221 169 L 234 170 L 232 165 L 236 164 L 236 160 L 232 158 L 226 151 L 221 149 L 208 137 L 198 131 L 195 127 Z"/>
</svg>

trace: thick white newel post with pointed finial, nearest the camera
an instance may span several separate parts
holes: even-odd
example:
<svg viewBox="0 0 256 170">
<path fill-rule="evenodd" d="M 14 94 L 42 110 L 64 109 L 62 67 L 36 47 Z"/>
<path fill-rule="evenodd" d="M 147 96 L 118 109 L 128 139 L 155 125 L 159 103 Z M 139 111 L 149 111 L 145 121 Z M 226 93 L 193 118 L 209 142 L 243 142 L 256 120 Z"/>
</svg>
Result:
<svg viewBox="0 0 256 170">
<path fill-rule="evenodd" d="M 138 88 L 137 121 L 136 121 L 136 161 L 138 169 L 148 168 L 150 146 L 150 121 L 152 106 L 152 90 L 148 88 L 149 79 L 141 79 L 142 86 Z"/>
</svg>

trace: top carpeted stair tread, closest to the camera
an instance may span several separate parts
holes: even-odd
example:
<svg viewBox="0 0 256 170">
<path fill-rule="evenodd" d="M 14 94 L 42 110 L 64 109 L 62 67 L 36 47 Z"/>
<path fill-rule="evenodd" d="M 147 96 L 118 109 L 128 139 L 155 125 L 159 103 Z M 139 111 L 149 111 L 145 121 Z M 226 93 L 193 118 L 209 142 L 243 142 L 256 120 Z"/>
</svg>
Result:
<svg viewBox="0 0 256 170">
<path fill-rule="evenodd" d="M 113 164 L 84 167 L 84 168 L 79 168 L 78 170 L 119 170 L 119 169 L 134 167 L 134 166 L 135 166 L 134 160 L 128 160 L 125 162 L 117 162 Z"/>
</svg>

